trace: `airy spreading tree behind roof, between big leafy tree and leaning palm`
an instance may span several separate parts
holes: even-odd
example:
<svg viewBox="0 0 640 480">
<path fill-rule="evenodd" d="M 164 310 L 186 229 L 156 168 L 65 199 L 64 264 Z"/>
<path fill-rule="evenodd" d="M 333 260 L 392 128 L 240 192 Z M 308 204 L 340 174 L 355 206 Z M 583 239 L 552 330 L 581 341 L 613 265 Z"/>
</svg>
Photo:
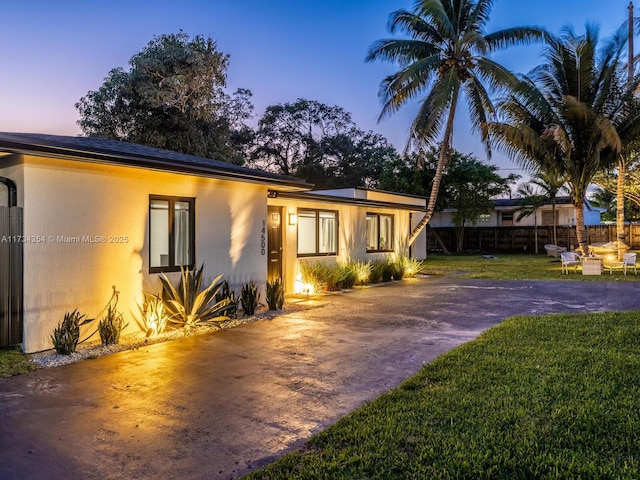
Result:
<svg viewBox="0 0 640 480">
<path fill-rule="evenodd" d="M 383 136 L 360 130 L 341 107 L 315 100 L 269 106 L 255 140 L 252 166 L 316 188 L 374 186 L 382 166 L 397 157 Z"/>
</svg>

